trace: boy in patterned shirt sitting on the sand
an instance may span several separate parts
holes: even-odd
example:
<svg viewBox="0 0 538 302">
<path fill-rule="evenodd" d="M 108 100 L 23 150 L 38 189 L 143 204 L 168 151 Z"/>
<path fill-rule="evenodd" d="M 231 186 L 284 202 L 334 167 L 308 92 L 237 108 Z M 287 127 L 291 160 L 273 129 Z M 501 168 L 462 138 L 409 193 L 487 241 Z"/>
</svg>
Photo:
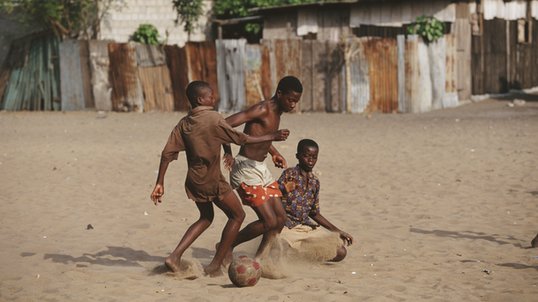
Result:
<svg viewBox="0 0 538 302">
<path fill-rule="evenodd" d="M 334 226 L 320 213 L 320 185 L 318 178 L 312 173 L 318 160 L 318 152 L 319 147 L 315 141 L 301 140 L 297 145 L 295 155 L 299 160 L 298 165 L 286 169 L 278 180 L 283 194 L 282 205 L 287 216 L 286 227 L 282 230 L 281 238 L 292 248 L 300 251 L 301 243 L 305 239 L 324 240 L 330 236 L 330 232 L 336 232 L 343 242 L 335 246 L 334 258 L 323 260 L 341 261 L 347 254 L 345 245 L 351 245 L 353 237 Z M 320 225 L 326 230 L 318 228 Z"/>
</svg>

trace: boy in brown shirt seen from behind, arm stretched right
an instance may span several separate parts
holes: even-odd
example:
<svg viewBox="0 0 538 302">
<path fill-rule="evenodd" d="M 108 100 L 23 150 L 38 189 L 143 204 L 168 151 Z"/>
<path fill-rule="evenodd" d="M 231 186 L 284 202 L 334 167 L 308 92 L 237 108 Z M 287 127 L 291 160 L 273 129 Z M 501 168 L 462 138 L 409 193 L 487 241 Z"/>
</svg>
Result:
<svg viewBox="0 0 538 302">
<path fill-rule="evenodd" d="M 206 274 L 216 276 L 222 274 L 220 270 L 222 261 L 245 218 L 241 203 L 220 171 L 221 145 L 282 141 L 288 137 L 289 131 L 275 129 L 265 135 L 249 136 L 234 130 L 218 112 L 213 110 L 216 101 L 213 90 L 206 82 L 191 82 L 187 86 L 187 97 L 192 110 L 172 130 L 162 151 L 159 174 L 151 193 L 151 200 L 155 205 L 161 202 L 168 164 L 177 159 L 180 151 L 185 151 L 188 165 L 185 190 L 189 199 L 195 201 L 200 211 L 200 218 L 185 232 L 177 247 L 166 258 L 165 264 L 171 271 L 179 271 L 181 256 L 185 250 L 213 221 L 214 203 L 228 216 L 228 222 L 222 231 L 221 244 L 211 263 L 204 268 Z"/>
</svg>

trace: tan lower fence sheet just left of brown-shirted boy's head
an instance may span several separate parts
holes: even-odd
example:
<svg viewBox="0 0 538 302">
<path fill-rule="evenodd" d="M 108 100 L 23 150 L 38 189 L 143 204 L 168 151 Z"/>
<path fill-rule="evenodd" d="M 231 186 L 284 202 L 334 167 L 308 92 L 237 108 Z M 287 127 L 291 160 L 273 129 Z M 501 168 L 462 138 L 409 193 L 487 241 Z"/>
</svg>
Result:
<svg viewBox="0 0 538 302">
<path fill-rule="evenodd" d="M 168 67 L 138 67 L 138 75 L 144 92 L 144 111 L 174 111 Z"/>
</svg>

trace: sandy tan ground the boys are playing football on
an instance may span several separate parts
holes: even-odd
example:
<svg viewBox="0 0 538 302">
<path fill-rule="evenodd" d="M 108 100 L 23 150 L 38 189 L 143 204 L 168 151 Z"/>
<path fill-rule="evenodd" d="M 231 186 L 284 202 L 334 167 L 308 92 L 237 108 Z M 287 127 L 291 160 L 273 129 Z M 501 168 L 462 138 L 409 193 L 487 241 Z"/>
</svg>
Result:
<svg viewBox="0 0 538 302">
<path fill-rule="evenodd" d="M 289 267 L 251 288 L 159 270 L 197 219 L 184 155 L 163 204 L 149 200 L 183 115 L 0 113 L 0 301 L 536 301 L 537 98 L 287 114 L 292 134 L 277 148 L 295 164 L 297 141 L 318 141 L 322 213 L 356 243 L 341 263 Z M 217 212 L 186 257 L 208 264 L 224 222 Z"/>
</svg>

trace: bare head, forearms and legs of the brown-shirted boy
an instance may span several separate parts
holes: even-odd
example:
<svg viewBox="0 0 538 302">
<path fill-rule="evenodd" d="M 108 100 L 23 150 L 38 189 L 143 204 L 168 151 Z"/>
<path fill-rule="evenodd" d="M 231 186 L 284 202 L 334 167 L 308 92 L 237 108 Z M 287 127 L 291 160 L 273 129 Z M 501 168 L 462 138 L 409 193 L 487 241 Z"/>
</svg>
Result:
<svg viewBox="0 0 538 302">
<path fill-rule="evenodd" d="M 198 91 L 198 96 L 193 102 L 192 107 L 197 106 L 215 106 L 215 98 L 213 97 L 213 90 L 209 87 L 201 88 Z M 270 142 L 273 140 L 282 141 L 286 140 L 289 135 L 289 131 L 276 130 L 271 133 L 266 133 L 261 136 L 248 136 L 246 144 L 260 144 L 265 142 Z M 151 200 L 155 205 L 161 203 L 161 199 L 164 195 L 164 175 L 168 169 L 168 162 L 161 161 L 159 165 L 159 174 L 157 176 L 157 181 L 155 188 L 151 193 Z M 243 206 L 241 205 L 239 199 L 233 192 L 228 192 L 222 200 L 215 199 L 212 202 L 197 202 L 196 206 L 200 212 L 200 218 L 194 222 L 185 232 L 180 242 L 174 249 L 174 251 L 166 257 L 165 265 L 173 272 L 180 271 L 181 257 L 185 250 L 211 225 L 211 222 L 214 218 L 213 204 L 215 204 L 219 209 L 221 209 L 226 216 L 228 217 L 228 222 L 222 230 L 221 244 L 215 253 L 215 257 L 211 263 L 204 268 L 204 271 L 209 276 L 219 276 L 222 275 L 220 269 L 226 254 L 230 250 L 234 240 L 237 237 L 239 228 L 245 219 L 245 212 L 243 211 Z"/>
</svg>

